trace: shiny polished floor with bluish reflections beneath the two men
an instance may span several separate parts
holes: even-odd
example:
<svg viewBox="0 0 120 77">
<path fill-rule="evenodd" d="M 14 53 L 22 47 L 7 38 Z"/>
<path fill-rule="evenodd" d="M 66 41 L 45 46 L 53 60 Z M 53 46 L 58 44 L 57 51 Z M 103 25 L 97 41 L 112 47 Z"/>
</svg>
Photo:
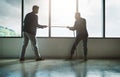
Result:
<svg viewBox="0 0 120 77">
<path fill-rule="evenodd" d="M 0 60 L 0 77 L 120 77 L 120 60 Z"/>
</svg>

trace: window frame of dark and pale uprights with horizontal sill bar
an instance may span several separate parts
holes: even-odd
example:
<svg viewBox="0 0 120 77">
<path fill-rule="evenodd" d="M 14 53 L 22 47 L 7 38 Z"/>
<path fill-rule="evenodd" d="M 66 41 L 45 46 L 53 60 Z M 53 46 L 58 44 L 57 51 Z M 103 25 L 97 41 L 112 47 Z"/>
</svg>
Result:
<svg viewBox="0 0 120 77">
<path fill-rule="evenodd" d="M 78 5 L 77 4 L 78 0 L 76 0 L 76 10 L 78 10 Z M 105 6 L 106 2 L 105 0 L 102 0 L 102 26 L 103 26 L 103 33 L 102 33 L 102 37 L 89 37 L 90 39 L 91 38 L 94 38 L 94 39 L 120 39 L 120 36 L 119 37 L 106 37 L 106 25 L 105 25 L 105 11 L 106 11 L 106 6 Z M 21 0 L 21 36 L 17 37 L 0 37 L 0 38 L 22 38 L 23 35 L 22 35 L 22 27 L 23 27 L 23 17 L 24 17 L 24 0 Z M 37 38 L 74 38 L 74 37 L 51 37 L 51 0 L 49 0 L 49 17 L 48 17 L 48 37 L 37 37 Z"/>
</svg>

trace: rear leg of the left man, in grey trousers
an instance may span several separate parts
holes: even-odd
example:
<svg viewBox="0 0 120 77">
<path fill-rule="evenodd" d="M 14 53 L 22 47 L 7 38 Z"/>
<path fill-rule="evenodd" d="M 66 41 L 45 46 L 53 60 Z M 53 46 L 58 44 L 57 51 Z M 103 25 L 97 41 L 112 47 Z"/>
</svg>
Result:
<svg viewBox="0 0 120 77">
<path fill-rule="evenodd" d="M 28 41 L 29 41 L 29 38 L 27 37 L 26 32 L 23 32 L 23 36 L 24 36 L 24 41 L 23 41 L 23 46 L 22 46 L 22 52 L 20 55 L 20 61 L 24 60 L 25 51 L 26 51 Z"/>
</svg>

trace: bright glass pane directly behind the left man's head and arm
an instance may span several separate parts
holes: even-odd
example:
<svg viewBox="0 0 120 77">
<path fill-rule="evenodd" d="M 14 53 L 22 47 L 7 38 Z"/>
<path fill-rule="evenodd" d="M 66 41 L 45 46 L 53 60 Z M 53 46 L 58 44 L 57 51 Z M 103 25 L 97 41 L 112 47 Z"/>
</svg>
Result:
<svg viewBox="0 0 120 77">
<path fill-rule="evenodd" d="M 49 0 L 24 0 L 24 17 L 27 13 L 32 11 L 33 5 L 39 6 L 38 23 L 41 25 L 48 25 Z M 37 29 L 36 36 L 48 37 L 48 28 Z"/>
</svg>

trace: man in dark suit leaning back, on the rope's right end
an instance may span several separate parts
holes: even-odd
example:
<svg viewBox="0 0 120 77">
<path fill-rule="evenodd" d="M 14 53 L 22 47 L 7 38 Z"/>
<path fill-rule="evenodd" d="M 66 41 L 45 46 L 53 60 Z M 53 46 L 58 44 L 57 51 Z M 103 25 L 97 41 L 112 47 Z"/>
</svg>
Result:
<svg viewBox="0 0 120 77">
<path fill-rule="evenodd" d="M 80 16 L 80 13 L 75 14 L 75 23 L 73 27 L 68 27 L 70 30 L 76 30 L 77 36 L 75 38 L 75 42 L 71 48 L 71 55 L 69 59 L 72 59 L 74 51 L 78 45 L 78 43 L 83 40 L 83 47 L 84 47 L 84 60 L 87 60 L 87 40 L 88 40 L 88 32 L 86 28 L 86 20 Z"/>
</svg>

